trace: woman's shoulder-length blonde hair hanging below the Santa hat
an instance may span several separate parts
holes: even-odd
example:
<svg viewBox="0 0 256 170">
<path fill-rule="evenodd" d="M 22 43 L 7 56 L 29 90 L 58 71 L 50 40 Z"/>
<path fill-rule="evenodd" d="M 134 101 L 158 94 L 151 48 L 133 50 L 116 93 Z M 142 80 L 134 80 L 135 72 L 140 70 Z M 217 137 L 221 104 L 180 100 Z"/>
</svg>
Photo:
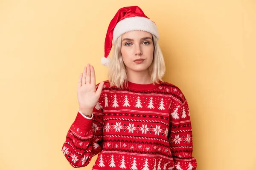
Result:
<svg viewBox="0 0 256 170">
<path fill-rule="evenodd" d="M 163 53 L 158 44 L 157 38 L 152 35 L 153 44 L 154 44 L 154 56 L 151 65 L 149 66 L 149 75 L 151 76 L 151 80 L 153 84 L 159 84 L 159 81 L 163 81 L 162 77 L 166 71 Z M 125 69 L 125 63 L 122 60 L 121 54 L 121 42 L 122 35 L 119 36 L 115 42 L 115 46 L 112 52 L 112 59 L 109 64 L 108 69 L 108 80 L 111 86 L 116 86 L 118 88 L 123 89 L 123 84 L 125 83 L 127 87 L 127 72 Z"/>
</svg>

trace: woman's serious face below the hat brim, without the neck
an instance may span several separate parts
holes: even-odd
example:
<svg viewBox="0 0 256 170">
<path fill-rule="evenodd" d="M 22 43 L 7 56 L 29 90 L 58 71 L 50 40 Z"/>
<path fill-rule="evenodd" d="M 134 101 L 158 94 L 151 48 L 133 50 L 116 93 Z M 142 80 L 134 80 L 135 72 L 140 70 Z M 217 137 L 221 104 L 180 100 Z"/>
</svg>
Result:
<svg viewBox="0 0 256 170">
<path fill-rule="evenodd" d="M 128 72 L 147 70 L 153 61 L 154 55 L 151 33 L 145 31 L 131 31 L 123 34 L 121 54 Z"/>
</svg>

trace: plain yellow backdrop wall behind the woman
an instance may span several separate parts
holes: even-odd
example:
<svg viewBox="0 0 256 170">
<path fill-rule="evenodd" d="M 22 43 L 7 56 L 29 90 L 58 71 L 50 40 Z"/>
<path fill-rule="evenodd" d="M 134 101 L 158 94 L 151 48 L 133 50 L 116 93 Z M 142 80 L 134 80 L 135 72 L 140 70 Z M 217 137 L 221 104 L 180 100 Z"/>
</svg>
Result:
<svg viewBox="0 0 256 170">
<path fill-rule="evenodd" d="M 74 169 L 61 149 L 79 75 L 90 63 L 107 80 L 108 24 L 134 5 L 188 100 L 197 170 L 256 170 L 255 0 L 0 0 L 0 170 Z"/>
</svg>

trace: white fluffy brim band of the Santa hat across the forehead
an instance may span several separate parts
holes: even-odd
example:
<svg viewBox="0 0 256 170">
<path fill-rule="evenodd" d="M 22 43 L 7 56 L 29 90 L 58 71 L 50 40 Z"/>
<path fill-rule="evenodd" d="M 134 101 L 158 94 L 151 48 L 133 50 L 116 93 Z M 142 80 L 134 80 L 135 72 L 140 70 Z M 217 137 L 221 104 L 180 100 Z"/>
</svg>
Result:
<svg viewBox="0 0 256 170">
<path fill-rule="evenodd" d="M 150 32 L 159 39 L 157 26 L 153 21 L 145 17 L 128 17 L 116 24 L 113 31 L 113 44 L 120 35 L 129 31 L 137 30 Z"/>
</svg>

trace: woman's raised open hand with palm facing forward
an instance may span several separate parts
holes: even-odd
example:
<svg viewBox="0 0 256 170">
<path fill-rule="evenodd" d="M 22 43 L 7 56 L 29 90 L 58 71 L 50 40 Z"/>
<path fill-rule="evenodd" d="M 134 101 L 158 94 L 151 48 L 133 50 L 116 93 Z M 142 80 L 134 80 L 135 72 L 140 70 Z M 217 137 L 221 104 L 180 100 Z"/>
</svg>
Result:
<svg viewBox="0 0 256 170">
<path fill-rule="evenodd" d="M 100 82 L 96 90 L 94 68 L 88 63 L 87 67 L 84 67 L 84 72 L 79 77 L 77 89 L 79 110 L 84 115 L 92 115 L 93 108 L 97 104 L 102 92 L 103 84 L 104 82 Z"/>
</svg>

